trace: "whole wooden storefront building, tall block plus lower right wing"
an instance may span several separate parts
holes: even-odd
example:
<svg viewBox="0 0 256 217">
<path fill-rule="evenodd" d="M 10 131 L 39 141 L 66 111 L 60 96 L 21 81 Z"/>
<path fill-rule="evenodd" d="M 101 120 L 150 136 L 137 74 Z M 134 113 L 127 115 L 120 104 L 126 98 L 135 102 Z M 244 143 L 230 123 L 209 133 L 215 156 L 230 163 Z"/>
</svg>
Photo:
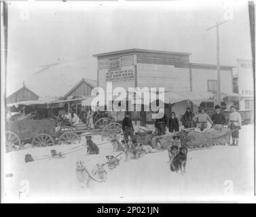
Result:
<svg viewBox="0 0 256 217">
<path fill-rule="evenodd" d="M 97 85 L 106 90 L 107 82 L 112 82 L 113 89 L 124 87 L 126 91 L 128 87 L 164 87 L 166 93 L 182 92 L 181 96 L 185 96 L 185 92 L 191 93 L 191 96 L 196 96 L 196 93 L 216 94 L 216 65 L 191 64 L 190 55 L 183 52 L 141 49 L 96 54 L 94 57 L 98 60 Z M 221 92 L 227 95 L 233 93 L 232 68 L 233 66 L 221 66 Z M 204 100 L 201 105 L 208 106 L 209 109 L 213 108 L 214 102 Z M 165 102 L 168 116 L 170 111 L 175 111 L 180 117 L 187 107 L 197 112 L 198 106 L 191 100 L 173 104 L 171 100 Z M 124 113 L 117 113 L 117 120 L 122 119 L 123 115 Z M 153 121 L 150 112 L 133 112 L 132 119 L 143 123 Z"/>
</svg>

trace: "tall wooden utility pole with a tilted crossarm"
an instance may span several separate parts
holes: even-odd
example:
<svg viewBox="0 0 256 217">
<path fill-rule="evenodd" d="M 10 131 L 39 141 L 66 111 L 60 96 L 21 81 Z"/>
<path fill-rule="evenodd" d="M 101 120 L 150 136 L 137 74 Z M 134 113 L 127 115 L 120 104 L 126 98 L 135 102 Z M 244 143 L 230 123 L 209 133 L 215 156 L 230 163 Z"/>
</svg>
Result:
<svg viewBox="0 0 256 217">
<path fill-rule="evenodd" d="M 206 31 L 211 30 L 212 28 L 216 27 L 216 52 L 217 52 L 217 104 L 219 106 L 221 105 L 221 66 L 220 66 L 220 60 L 219 60 L 219 26 L 221 24 L 224 24 L 227 22 L 227 20 L 223 22 L 219 22 L 219 20 L 216 22 L 214 26 L 211 26 L 210 28 L 206 28 Z"/>
</svg>

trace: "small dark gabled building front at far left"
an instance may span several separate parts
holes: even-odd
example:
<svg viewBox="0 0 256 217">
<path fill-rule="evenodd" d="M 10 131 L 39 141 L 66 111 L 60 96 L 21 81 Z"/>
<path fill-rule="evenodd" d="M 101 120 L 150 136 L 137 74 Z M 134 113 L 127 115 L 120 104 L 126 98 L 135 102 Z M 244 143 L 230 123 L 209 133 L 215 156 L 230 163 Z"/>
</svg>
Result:
<svg viewBox="0 0 256 217">
<path fill-rule="evenodd" d="M 29 90 L 28 87 L 23 83 L 23 87 L 19 90 L 7 96 L 6 104 L 11 104 L 15 102 L 25 101 L 25 100 L 38 100 L 39 96 L 35 94 L 33 91 Z"/>
</svg>

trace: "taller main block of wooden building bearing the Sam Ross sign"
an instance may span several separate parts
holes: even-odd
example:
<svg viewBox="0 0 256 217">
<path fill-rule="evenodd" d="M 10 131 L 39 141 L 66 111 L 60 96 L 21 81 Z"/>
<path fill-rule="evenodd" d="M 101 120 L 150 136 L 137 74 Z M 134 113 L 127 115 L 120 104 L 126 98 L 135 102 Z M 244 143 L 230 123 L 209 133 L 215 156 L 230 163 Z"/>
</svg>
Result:
<svg viewBox="0 0 256 217">
<path fill-rule="evenodd" d="M 164 87 L 166 91 L 190 91 L 189 53 L 130 49 L 96 54 L 98 87 L 106 89 L 107 82 L 115 87 Z M 182 103 L 181 103 L 182 104 Z M 179 107 L 179 102 L 177 103 Z M 169 115 L 168 108 L 166 113 Z M 124 114 L 117 113 L 117 120 Z M 151 113 L 132 113 L 132 119 L 151 121 Z"/>
</svg>

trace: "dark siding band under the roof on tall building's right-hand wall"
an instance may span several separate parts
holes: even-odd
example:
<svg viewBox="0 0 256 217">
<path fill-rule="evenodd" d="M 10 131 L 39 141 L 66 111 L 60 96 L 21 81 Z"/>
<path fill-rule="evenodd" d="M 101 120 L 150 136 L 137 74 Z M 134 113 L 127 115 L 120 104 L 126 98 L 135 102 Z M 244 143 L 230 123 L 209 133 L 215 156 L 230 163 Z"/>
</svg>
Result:
<svg viewBox="0 0 256 217">
<path fill-rule="evenodd" d="M 173 65 L 176 68 L 189 68 L 189 55 L 137 53 L 137 63 Z"/>
</svg>

